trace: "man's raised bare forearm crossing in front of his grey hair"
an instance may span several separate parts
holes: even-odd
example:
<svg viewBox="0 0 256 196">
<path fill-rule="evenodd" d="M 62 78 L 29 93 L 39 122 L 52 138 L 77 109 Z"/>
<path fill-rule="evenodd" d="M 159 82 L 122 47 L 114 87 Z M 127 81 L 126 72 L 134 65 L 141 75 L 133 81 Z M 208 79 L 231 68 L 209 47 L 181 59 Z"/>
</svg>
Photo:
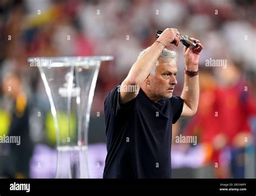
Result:
<svg viewBox="0 0 256 196">
<path fill-rule="evenodd" d="M 138 59 L 130 69 L 126 80 L 130 80 L 133 85 L 141 85 L 151 69 L 156 63 L 159 55 L 163 51 L 163 46 L 160 43 L 154 43 L 140 59 Z"/>
</svg>

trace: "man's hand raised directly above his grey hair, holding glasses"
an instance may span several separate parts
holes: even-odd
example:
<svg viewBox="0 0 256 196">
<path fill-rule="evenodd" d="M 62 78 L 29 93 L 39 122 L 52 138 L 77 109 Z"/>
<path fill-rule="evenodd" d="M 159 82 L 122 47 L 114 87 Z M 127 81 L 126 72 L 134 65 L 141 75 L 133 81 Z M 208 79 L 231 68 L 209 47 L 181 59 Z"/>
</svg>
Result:
<svg viewBox="0 0 256 196">
<path fill-rule="evenodd" d="M 171 43 L 178 46 L 180 41 L 178 29 L 167 28 L 161 33 L 160 37 L 157 39 L 166 46 L 169 46 Z"/>
</svg>

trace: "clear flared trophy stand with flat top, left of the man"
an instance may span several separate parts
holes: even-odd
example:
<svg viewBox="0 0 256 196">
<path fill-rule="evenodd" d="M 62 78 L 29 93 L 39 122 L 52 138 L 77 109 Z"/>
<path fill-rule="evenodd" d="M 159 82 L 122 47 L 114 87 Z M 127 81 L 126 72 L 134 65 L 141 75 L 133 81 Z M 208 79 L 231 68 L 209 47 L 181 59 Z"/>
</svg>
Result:
<svg viewBox="0 0 256 196">
<path fill-rule="evenodd" d="M 56 178 L 89 178 L 90 111 L 100 63 L 107 60 L 113 57 L 28 58 L 31 67 L 38 67 L 50 102 L 57 142 Z"/>
</svg>

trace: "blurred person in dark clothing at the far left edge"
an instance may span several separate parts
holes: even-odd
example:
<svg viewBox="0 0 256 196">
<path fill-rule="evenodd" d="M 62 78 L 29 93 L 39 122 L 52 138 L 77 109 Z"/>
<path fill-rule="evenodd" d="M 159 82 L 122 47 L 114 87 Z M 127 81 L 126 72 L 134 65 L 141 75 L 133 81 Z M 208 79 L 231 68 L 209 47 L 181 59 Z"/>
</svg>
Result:
<svg viewBox="0 0 256 196">
<path fill-rule="evenodd" d="M 29 101 L 23 89 L 21 75 L 17 72 L 6 74 L 2 88 L 3 93 L 14 103 L 8 136 L 16 138 L 16 143 L 5 145 L 8 156 L 4 161 L 2 175 L 8 178 L 29 178 L 33 144 L 29 136 Z"/>
</svg>

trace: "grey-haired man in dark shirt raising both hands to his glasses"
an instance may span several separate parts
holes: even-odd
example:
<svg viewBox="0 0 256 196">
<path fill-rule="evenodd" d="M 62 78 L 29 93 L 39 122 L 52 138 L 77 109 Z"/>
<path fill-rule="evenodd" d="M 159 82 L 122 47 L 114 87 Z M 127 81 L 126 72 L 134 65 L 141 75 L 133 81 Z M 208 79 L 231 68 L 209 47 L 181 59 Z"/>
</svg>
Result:
<svg viewBox="0 0 256 196">
<path fill-rule="evenodd" d="M 193 40 L 196 48 L 184 47 L 186 74 L 180 97 L 172 96 L 177 84 L 176 52 L 165 49 L 170 43 L 179 45 L 177 29 L 161 33 L 139 55 L 122 84 L 107 95 L 103 178 L 171 178 L 172 123 L 180 116 L 194 115 L 198 107 L 198 60 L 203 46 Z"/>
</svg>

